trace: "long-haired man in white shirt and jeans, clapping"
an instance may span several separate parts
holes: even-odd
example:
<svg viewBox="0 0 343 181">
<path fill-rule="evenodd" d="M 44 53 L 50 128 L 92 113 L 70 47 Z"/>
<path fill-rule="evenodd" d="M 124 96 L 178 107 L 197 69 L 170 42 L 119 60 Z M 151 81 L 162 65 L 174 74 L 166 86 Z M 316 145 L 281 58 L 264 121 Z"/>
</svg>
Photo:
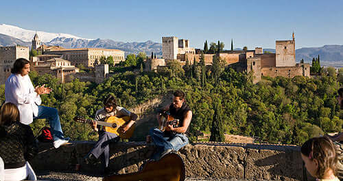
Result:
<svg viewBox="0 0 343 181">
<path fill-rule="evenodd" d="M 40 94 L 49 94 L 51 89 L 45 85 L 34 87 L 29 79 L 30 65 L 27 59 L 16 59 L 12 74 L 5 82 L 5 102 L 12 102 L 20 112 L 21 123 L 31 124 L 34 119 L 48 119 L 54 137 L 54 147 L 59 148 L 69 141 L 60 125 L 57 109 L 40 106 Z"/>
</svg>

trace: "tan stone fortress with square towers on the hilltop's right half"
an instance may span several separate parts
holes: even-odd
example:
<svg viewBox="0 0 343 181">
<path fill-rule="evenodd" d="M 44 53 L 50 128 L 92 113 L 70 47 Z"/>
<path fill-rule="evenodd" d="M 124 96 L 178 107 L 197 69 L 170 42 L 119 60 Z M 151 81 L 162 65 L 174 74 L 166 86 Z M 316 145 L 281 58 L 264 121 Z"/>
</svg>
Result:
<svg viewBox="0 0 343 181">
<path fill-rule="evenodd" d="M 261 81 L 261 76 L 310 76 L 309 64 L 296 64 L 294 33 L 292 40 L 276 40 L 276 53 L 263 53 L 263 48 L 247 51 L 220 51 L 220 59 L 237 71 L 251 72 L 254 83 Z M 165 61 L 177 59 L 185 65 L 186 59 L 191 64 L 200 61 L 200 49 L 190 48 L 189 40 L 176 37 L 162 38 L 162 53 Z M 212 64 L 213 55 L 204 54 L 206 65 Z M 161 61 L 161 60 L 158 60 Z"/>
</svg>

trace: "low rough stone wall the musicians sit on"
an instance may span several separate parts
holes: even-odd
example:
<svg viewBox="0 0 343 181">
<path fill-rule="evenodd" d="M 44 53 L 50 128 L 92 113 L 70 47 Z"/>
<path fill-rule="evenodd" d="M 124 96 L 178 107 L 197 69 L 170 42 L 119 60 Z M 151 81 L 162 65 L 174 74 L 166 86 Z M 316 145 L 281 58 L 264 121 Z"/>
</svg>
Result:
<svg viewBox="0 0 343 181">
<path fill-rule="evenodd" d="M 41 144 L 32 166 L 35 170 L 81 171 L 97 174 L 101 164 L 85 165 L 83 157 L 95 142 L 77 141 L 58 149 Z M 109 167 L 115 173 L 132 173 L 154 152 L 145 142 L 112 143 Z M 183 158 L 187 177 L 230 178 L 240 180 L 304 180 L 300 148 L 293 145 L 255 145 L 196 143 L 178 152 Z"/>
</svg>

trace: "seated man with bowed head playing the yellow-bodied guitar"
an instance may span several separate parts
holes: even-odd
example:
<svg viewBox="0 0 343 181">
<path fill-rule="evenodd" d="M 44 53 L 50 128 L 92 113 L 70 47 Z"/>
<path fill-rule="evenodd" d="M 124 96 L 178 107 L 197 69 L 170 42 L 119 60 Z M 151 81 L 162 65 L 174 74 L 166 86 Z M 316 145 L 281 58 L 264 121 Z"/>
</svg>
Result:
<svg viewBox="0 0 343 181">
<path fill-rule="evenodd" d="M 116 116 L 130 116 L 130 121 L 122 128 L 124 133 L 136 122 L 137 115 L 131 113 L 123 107 L 117 106 L 117 100 L 114 96 L 108 96 L 104 99 L 104 107 L 97 110 L 95 113 L 95 120 L 91 123 L 93 130 L 99 133 L 99 140 L 95 143 L 93 149 L 86 155 L 85 161 L 87 164 L 94 164 L 98 158 L 102 156 L 102 163 L 105 167 L 105 173 L 108 173 L 108 162 L 110 160 L 110 146 L 109 143 L 119 141 L 118 135 L 115 133 L 108 133 L 103 127 L 97 126 L 97 120 L 104 121 L 106 117 Z"/>
</svg>

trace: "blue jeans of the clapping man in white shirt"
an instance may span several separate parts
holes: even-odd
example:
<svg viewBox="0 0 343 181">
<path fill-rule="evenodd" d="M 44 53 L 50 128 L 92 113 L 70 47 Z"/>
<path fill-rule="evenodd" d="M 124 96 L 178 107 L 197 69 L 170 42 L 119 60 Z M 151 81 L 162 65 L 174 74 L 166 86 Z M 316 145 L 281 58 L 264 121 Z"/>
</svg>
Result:
<svg viewBox="0 0 343 181">
<path fill-rule="evenodd" d="M 54 137 L 54 141 L 58 139 L 64 139 L 60 124 L 60 116 L 58 115 L 57 109 L 52 107 L 38 106 L 38 115 L 36 117 L 34 116 L 34 120 L 35 119 L 49 120 L 51 134 Z"/>
</svg>

